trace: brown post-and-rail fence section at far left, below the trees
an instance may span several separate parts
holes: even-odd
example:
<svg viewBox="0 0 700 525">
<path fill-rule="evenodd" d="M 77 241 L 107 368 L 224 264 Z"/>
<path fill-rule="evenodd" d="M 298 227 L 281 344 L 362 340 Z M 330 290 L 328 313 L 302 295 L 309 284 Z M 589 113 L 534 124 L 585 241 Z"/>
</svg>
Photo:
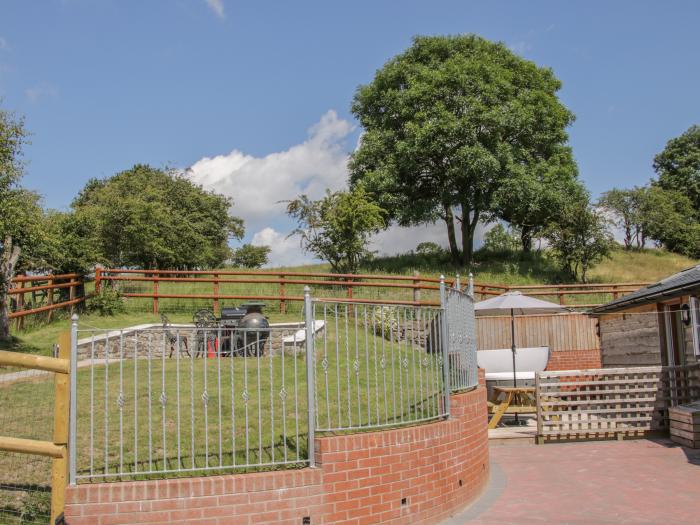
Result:
<svg viewBox="0 0 700 525">
<path fill-rule="evenodd" d="M 83 278 L 77 273 L 60 275 L 19 275 L 12 279 L 10 319 L 17 319 L 17 328 L 23 327 L 28 315 L 70 308 L 85 300 Z M 29 297 L 27 297 L 29 296 Z"/>
</svg>

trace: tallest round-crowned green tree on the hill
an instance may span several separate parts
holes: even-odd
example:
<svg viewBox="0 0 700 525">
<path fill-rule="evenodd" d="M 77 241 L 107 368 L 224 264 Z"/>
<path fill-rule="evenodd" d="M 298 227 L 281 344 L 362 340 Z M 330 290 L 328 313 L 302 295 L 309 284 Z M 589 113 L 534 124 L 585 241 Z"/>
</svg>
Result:
<svg viewBox="0 0 700 525">
<path fill-rule="evenodd" d="M 550 69 L 502 43 L 416 37 L 355 94 L 364 133 L 351 184 L 399 224 L 444 221 L 454 262 L 469 263 L 477 224 L 505 215 L 499 188 L 568 154 L 574 117 L 560 87 Z"/>
</svg>

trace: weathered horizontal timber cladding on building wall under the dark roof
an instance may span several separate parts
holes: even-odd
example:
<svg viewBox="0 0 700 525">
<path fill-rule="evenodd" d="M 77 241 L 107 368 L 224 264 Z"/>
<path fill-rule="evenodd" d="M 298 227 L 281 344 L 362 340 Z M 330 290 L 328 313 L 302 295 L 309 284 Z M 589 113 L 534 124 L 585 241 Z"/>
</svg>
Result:
<svg viewBox="0 0 700 525">
<path fill-rule="evenodd" d="M 660 365 L 660 334 L 656 305 L 601 315 L 603 367 Z"/>
</svg>

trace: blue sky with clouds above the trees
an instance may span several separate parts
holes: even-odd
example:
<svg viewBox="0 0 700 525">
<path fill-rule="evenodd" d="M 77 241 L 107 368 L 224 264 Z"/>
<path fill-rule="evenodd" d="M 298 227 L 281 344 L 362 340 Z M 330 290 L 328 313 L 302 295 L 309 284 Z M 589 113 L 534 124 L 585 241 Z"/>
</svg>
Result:
<svg viewBox="0 0 700 525">
<path fill-rule="evenodd" d="M 198 165 L 248 239 L 267 228 L 277 237 L 257 242 L 277 243 L 290 227 L 277 201 L 342 185 L 353 92 L 413 35 L 477 33 L 551 67 L 597 195 L 646 182 L 654 154 L 700 122 L 699 22 L 691 1 L 2 0 L 0 97 L 33 133 L 24 183 L 47 205 L 137 162 Z M 386 251 L 415 241 L 392 237 Z"/>
</svg>

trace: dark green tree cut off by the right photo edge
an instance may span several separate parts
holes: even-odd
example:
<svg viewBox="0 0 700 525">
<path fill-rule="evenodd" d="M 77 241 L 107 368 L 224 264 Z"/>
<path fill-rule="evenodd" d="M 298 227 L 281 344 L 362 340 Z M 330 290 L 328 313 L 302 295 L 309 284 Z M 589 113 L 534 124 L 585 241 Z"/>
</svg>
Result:
<svg viewBox="0 0 700 525">
<path fill-rule="evenodd" d="M 669 140 L 654 157 L 654 170 L 659 178 L 653 185 L 686 195 L 700 214 L 700 126 Z"/>
</svg>

